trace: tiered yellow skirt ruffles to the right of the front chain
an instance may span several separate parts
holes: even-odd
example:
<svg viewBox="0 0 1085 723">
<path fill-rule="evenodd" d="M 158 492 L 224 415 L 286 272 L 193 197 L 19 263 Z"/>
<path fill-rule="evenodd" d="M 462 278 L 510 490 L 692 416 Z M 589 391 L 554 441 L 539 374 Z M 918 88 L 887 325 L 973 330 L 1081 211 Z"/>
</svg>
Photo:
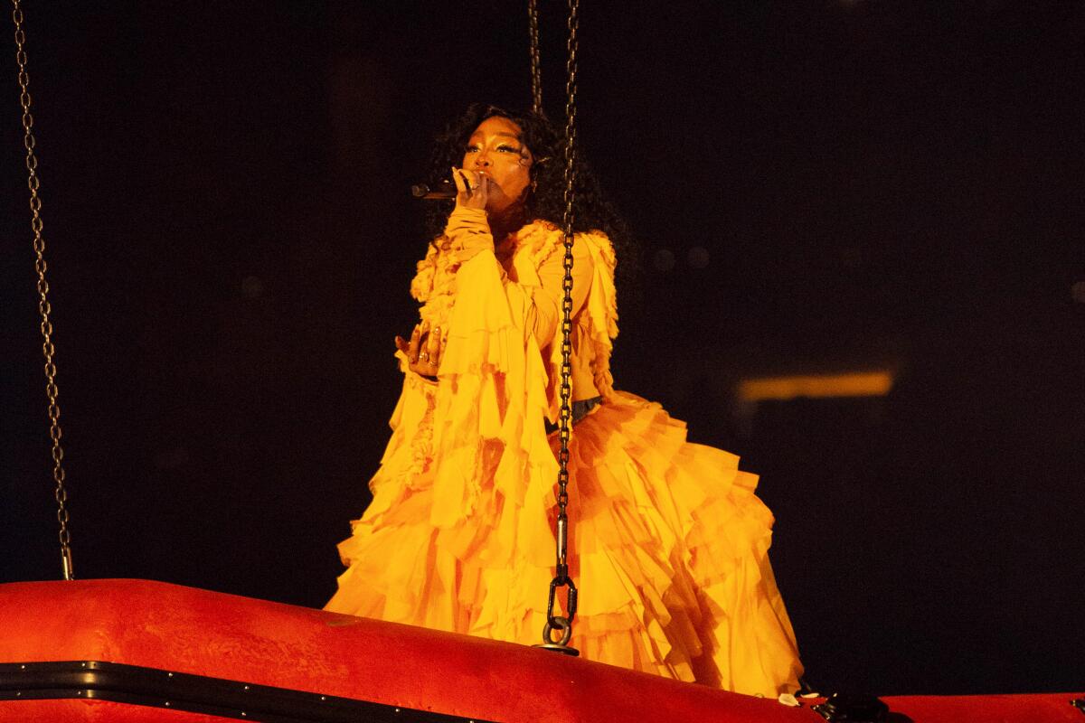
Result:
<svg viewBox="0 0 1085 723">
<path fill-rule="evenodd" d="M 740 693 L 796 690 L 757 477 L 622 391 L 577 425 L 570 452 L 584 656 Z"/>
</svg>

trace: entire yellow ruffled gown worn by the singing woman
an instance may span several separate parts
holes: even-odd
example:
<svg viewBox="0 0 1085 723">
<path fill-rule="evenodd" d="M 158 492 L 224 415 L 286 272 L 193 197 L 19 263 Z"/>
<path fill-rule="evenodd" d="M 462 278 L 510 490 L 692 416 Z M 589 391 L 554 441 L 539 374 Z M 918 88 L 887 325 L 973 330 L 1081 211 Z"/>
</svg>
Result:
<svg viewBox="0 0 1085 723">
<path fill-rule="evenodd" d="M 373 502 L 340 544 L 327 609 L 534 644 L 553 576 L 562 233 L 534 222 L 497 248 L 457 209 L 411 293 L 446 346 L 436 383 L 407 370 Z M 570 449 L 572 645 L 583 657 L 775 697 L 802 666 L 768 547 L 773 515 L 738 457 L 686 441 L 653 402 L 615 391 L 614 251 L 574 244 L 573 398 L 601 396 Z"/>
</svg>

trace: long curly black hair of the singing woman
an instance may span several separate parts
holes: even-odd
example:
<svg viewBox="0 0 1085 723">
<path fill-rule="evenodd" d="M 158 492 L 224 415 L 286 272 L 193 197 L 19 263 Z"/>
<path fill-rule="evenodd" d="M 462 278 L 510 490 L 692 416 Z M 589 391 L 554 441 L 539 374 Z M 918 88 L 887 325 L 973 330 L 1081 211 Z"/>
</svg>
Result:
<svg viewBox="0 0 1085 723">
<path fill-rule="evenodd" d="M 531 178 L 535 189 L 524 202 L 527 220 L 549 221 L 563 228 L 565 215 L 565 155 L 564 133 L 545 116 L 531 112 L 515 112 L 496 105 L 475 103 L 457 120 L 449 124 L 434 144 L 430 164 L 431 186 L 448 180 L 449 169 L 463 163 L 463 151 L 475 128 L 486 118 L 508 118 L 520 126 L 521 142 L 534 158 Z M 614 244 L 618 260 L 618 276 L 631 280 L 637 267 L 637 247 L 629 231 L 614 207 L 603 197 L 599 182 L 586 163 L 575 160 L 576 181 L 573 185 L 573 230 L 575 232 L 602 231 Z M 445 222 L 452 210 L 452 201 L 430 205 L 426 218 L 427 231 L 435 237 L 444 231 Z"/>
</svg>

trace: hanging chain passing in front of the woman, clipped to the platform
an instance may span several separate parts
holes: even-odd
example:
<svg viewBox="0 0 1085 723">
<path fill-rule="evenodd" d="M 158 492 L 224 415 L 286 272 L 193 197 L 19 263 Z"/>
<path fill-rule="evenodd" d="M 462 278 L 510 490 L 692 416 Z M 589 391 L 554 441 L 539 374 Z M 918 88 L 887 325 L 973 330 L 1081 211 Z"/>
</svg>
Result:
<svg viewBox="0 0 1085 723">
<path fill-rule="evenodd" d="M 577 11 L 579 0 L 569 0 L 569 42 L 565 61 L 565 214 L 562 225 L 565 231 L 564 269 L 561 287 L 564 292 L 561 301 L 561 411 L 558 425 L 558 565 L 557 574 L 550 582 L 550 597 L 547 606 L 547 624 L 542 630 L 542 642 L 549 647 L 577 655 L 567 643 L 573 634 L 573 618 L 576 616 L 576 585 L 569 576 L 569 516 L 565 508 L 569 505 L 569 440 L 573 428 L 573 225 L 575 214 L 573 202 L 576 185 L 576 30 L 579 26 Z M 569 588 L 569 598 L 565 605 L 565 617 L 553 614 L 554 595 L 558 588 Z M 554 643 L 551 635 L 561 632 L 560 643 Z"/>
</svg>

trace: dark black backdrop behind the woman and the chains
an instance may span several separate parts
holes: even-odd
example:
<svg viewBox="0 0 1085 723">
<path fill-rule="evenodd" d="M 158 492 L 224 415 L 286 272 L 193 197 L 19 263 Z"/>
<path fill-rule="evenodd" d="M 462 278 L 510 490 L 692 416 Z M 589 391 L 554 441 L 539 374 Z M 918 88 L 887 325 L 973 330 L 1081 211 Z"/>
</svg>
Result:
<svg viewBox="0 0 1085 723">
<path fill-rule="evenodd" d="M 26 2 L 80 578 L 331 595 L 414 319 L 406 189 L 467 102 L 527 103 L 525 4 Z M 15 581 L 60 565 L 4 27 Z M 762 475 L 822 690 L 1085 685 L 1083 37 L 1081 2 L 582 9 L 583 150 L 642 248 L 618 386 Z M 897 380 L 735 413 L 855 369 Z"/>
</svg>

